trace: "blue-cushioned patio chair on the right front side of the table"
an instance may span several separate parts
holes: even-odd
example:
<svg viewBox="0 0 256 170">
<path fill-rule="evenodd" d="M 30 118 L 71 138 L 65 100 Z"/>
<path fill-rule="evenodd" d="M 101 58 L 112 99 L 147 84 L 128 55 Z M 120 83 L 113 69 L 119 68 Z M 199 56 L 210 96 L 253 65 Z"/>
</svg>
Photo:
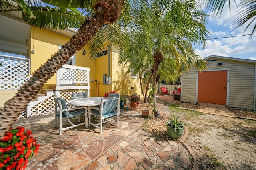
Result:
<svg viewBox="0 0 256 170">
<path fill-rule="evenodd" d="M 117 104 L 117 109 L 116 109 L 116 103 Z M 91 107 L 89 119 L 91 117 L 91 114 L 96 115 L 100 117 L 100 123 L 92 123 L 89 120 L 89 126 L 93 125 L 96 128 L 100 128 L 100 134 L 102 134 L 102 125 L 103 123 L 107 123 L 109 121 L 115 121 L 116 126 L 119 126 L 119 114 L 120 114 L 120 99 L 117 97 L 107 97 L 106 99 L 102 99 L 100 103 L 100 108 L 98 107 Z M 116 116 L 116 120 L 114 117 Z"/>
</svg>

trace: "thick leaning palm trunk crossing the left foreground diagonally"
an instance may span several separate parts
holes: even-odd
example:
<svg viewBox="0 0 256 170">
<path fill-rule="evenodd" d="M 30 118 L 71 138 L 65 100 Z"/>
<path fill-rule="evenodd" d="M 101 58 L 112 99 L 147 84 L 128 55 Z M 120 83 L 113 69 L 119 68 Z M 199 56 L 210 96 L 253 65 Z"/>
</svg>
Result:
<svg viewBox="0 0 256 170">
<path fill-rule="evenodd" d="M 124 0 L 98 0 L 94 4 L 96 13 L 86 18 L 78 33 L 62 46 L 48 61 L 42 65 L 33 77 L 20 87 L 14 98 L 0 110 L 0 138 L 10 129 L 20 113 L 26 109 L 31 99 L 68 59 L 96 34 L 104 24 L 115 22 L 120 16 Z"/>
</svg>

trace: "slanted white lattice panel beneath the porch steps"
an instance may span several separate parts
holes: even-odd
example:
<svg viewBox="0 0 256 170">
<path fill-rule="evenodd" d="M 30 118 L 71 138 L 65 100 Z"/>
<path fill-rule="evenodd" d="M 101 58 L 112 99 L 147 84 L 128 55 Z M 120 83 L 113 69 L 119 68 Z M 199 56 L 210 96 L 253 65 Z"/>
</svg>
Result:
<svg viewBox="0 0 256 170">
<path fill-rule="evenodd" d="M 31 108 L 31 116 L 55 112 L 54 95 Z"/>
</svg>

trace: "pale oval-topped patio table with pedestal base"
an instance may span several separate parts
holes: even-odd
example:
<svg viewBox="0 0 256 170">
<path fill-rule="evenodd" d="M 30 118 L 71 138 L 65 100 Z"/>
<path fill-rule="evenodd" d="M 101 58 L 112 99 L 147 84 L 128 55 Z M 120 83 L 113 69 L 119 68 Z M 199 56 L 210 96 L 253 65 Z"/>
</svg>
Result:
<svg viewBox="0 0 256 170">
<path fill-rule="evenodd" d="M 88 124 L 90 122 L 90 117 L 88 115 L 90 115 L 91 106 L 100 105 L 101 99 L 105 99 L 105 97 L 86 97 L 86 98 L 73 99 L 68 101 L 68 104 L 73 106 L 87 107 L 87 109 L 85 109 L 84 115 L 86 119 L 86 127 L 88 127 Z M 87 114 L 88 111 L 89 111 L 89 114 Z"/>
</svg>

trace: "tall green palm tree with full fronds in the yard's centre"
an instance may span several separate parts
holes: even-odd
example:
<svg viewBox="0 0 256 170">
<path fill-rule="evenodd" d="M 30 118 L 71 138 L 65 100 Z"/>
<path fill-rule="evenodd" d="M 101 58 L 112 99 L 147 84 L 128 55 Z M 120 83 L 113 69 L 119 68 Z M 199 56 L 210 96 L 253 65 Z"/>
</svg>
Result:
<svg viewBox="0 0 256 170">
<path fill-rule="evenodd" d="M 202 59 L 198 59 L 192 48 L 191 40 L 198 40 L 193 43 L 204 44 L 204 38 L 207 37 L 205 27 L 206 18 L 202 8 L 195 1 L 181 0 L 155 0 L 155 1 L 132 1 L 130 24 L 130 32 L 138 32 L 142 34 L 144 43 L 148 44 L 147 49 L 140 49 L 140 53 L 144 50 L 150 51 L 151 55 L 142 55 L 144 60 L 151 57 L 154 62 L 151 63 L 152 87 L 154 90 L 154 109 L 155 117 L 161 117 L 156 108 L 156 83 L 160 79 L 158 72 L 160 64 L 172 57 L 176 61 L 177 69 L 180 71 L 188 71 L 192 64 L 196 64 L 197 60 L 204 63 Z M 135 34 L 136 35 L 136 34 Z M 138 41 L 137 43 L 141 43 Z M 133 61 L 129 57 L 120 56 L 120 60 L 127 62 Z M 138 65 L 131 62 L 131 65 Z M 199 65 L 198 65 L 199 66 Z M 202 65 L 203 68 L 205 65 Z"/>
</svg>

